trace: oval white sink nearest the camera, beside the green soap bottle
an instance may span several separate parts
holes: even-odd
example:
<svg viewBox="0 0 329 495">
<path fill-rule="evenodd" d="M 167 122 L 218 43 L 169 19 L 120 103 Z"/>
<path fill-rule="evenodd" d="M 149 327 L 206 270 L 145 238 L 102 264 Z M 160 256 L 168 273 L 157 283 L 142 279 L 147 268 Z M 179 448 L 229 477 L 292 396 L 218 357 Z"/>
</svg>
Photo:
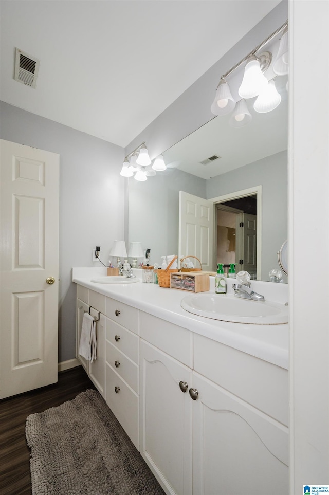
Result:
<svg viewBox="0 0 329 495">
<path fill-rule="evenodd" d="M 213 320 L 253 325 L 288 323 L 287 306 L 273 301 L 252 301 L 227 294 L 194 294 L 182 299 L 180 305 L 189 313 Z"/>
</svg>

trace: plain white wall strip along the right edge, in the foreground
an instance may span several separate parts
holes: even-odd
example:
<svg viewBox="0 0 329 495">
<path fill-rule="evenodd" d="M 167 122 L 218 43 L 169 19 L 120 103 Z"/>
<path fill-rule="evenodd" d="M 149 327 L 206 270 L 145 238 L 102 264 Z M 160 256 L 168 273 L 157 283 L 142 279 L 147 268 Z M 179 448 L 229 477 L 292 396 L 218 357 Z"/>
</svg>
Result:
<svg viewBox="0 0 329 495">
<path fill-rule="evenodd" d="M 289 2 L 292 495 L 306 484 L 329 484 L 328 25 L 327 1 Z"/>
</svg>

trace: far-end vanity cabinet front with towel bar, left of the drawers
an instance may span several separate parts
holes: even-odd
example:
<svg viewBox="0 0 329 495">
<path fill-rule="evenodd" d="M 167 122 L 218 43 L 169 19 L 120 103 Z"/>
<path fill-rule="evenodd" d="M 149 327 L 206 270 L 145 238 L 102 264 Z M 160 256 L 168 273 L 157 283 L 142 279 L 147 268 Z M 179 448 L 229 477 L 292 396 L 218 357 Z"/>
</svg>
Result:
<svg viewBox="0 0 329 495">
<path fill-rule="evenodd" d="M 79 355 L 79 343 L 82 328 L 83 314 L 90 311 L 90 307 L 98 311 L 96 320 L 97 358 L 91 363 Z M 102 397 L 105 397 L 105 297 L 93 290 L 78 285 L 77 287 L 77 333 L 76 356 L 94 383 Z"/>
</svg>

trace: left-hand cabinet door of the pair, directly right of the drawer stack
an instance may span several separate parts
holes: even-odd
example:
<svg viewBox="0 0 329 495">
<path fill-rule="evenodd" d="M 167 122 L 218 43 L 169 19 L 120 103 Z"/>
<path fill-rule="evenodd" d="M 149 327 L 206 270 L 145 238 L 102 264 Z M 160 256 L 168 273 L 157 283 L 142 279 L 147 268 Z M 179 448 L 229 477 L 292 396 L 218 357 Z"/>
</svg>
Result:
<svg viewBox="0 0 329 495">
<path fill-rule="evenodd" d="M 167 493 L 191 494 L 192 370 L 142 340 L 140 350 L 141 454 Z"/>
</svg>

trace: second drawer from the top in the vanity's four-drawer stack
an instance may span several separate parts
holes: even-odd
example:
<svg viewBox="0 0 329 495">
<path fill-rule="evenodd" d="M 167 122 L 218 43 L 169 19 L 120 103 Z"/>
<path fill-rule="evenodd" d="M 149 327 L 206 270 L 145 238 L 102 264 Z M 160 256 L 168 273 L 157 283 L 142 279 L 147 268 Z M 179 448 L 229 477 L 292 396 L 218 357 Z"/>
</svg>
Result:
<svg viewBox="0 0 329 495">
<path fill-rule="evenodd" d="M 139 337 L 118 325 L 109 318 L 105 319 L 106 340 L 111 342 L 119 351 L 128 356 L 135 363 L 139 363 Z"/>
</svg>

